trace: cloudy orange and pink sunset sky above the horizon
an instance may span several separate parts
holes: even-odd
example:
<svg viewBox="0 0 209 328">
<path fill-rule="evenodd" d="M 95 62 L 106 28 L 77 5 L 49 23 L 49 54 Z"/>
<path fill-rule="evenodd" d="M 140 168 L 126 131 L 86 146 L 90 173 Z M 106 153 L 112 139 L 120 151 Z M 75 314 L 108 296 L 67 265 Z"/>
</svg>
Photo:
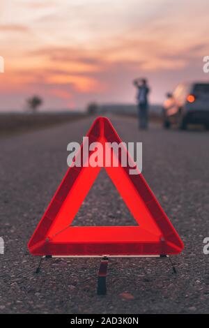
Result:
<svg viewBox="0 0 209 328">
<path fill-rule="evenodd" d="M 184 80 L 209 80 L 208 0 L 0 0 L 0 110 L 132 103 L 134 77 L 150 101 Z"/>
</svg>

